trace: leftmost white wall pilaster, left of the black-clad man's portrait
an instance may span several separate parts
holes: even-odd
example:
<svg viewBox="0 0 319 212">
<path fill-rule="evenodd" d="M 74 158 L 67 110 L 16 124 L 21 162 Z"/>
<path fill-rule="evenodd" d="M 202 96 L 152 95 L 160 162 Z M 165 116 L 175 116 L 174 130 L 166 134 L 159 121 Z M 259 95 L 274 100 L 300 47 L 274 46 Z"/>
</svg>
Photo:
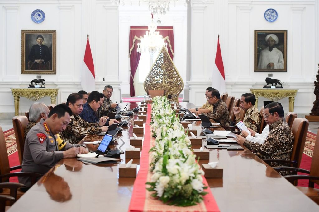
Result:
<svg viewBox="0 0 319 212">
<path fill-rule="evenodd" d="M 18 10 L 19 6 L 4 6 L 5 26 L 4 26 L 4 72 L 3 81 L 18 81 L 18 71 L 21 71 L 21 53 L 19 53 L 21 40 L 21 30 L 18 30 Z M 21 51 L 21 50 L 20 50 Z"/>
</svg>

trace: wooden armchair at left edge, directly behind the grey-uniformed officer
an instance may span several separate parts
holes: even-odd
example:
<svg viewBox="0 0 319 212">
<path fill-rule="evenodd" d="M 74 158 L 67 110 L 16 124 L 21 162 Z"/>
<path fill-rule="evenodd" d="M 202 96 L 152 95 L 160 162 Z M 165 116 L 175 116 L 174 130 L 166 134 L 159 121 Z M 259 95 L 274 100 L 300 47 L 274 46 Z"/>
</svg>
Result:
<svg viewBox="0 0 319 212">
<path fill-rule="evenodd" d="M 39 173 L 32 172 L 16 172 L 10 173 L 10 171 L 21 169 L 21 166 L 9 166 L 9 159 L 7 153 L 7 147 L 5 145 L 4 133 L 2 127 L 0 126 L 0 195 L 10 195 L 14 199 L 9 198 L 11 202 L 7 202 L 7 205 L 12 205 L 14 200 L 19 199 L 19 197 L 23 194 L 23 192 L 19 191 L 19 187 L 23 187 L 24 185 L 21 183 L 9 183 L 10 177 L 18 177 L 18 176 L 28 176 L 31 177 L 31 185 L 33 185 L 38 178 L 42 175 Z M 5 197 L 3 197 L 5 198 Z"/>
</svg>

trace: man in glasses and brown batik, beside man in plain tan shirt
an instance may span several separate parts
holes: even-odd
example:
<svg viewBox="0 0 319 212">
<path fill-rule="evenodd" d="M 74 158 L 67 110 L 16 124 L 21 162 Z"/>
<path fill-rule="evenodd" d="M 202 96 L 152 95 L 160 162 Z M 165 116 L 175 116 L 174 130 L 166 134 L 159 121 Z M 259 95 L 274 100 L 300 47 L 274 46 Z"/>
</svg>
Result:
<svg viewBox="0 0 319 212">
<path fill-rule="evenodd" d="M 207 100 L 210 104 L 214 105 L 212 113 L 202 113 L 207 115 L 208 118 L 213 119 L 216 123 L 220 123 L 221 126 L 229 126 L 229 113 L 226 103 L 220 99 L 219 91 L 216 89 L 210 89 L 207 93 Z"/>
</svg>

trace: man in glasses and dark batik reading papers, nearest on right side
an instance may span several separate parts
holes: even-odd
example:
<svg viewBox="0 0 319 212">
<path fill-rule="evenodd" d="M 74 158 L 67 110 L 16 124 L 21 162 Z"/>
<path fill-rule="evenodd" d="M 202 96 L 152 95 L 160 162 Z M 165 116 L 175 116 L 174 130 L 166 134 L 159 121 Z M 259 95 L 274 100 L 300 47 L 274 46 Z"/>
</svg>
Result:
<svg viewBox="0 0 319 212">
<path fill-rule="evenodd" d="M 249 150 L 256 152 L 261 159 L 290 160 L 293 150 L 293 133 L 284 119 L 284 109 L 278 102 L 267 104 L 264 110 L 264 119 L 270 126 L 270 131 L 263 144 L 253 143 L 247 139 L 240 139 L 237 143 L 245 145 Z M 289 166 L 287 163 L 271 162 L 271 166 Z M 282 175 L 289 172 L 279 172 Z"/>
</svg>

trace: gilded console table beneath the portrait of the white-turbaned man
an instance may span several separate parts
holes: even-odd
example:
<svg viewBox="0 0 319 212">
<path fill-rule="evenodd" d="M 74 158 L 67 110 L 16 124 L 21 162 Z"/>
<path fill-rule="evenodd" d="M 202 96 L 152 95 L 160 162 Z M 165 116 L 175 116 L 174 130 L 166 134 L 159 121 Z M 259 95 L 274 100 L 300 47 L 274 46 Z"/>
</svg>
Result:
<svg viewBox="0 0 319 212">
<path fill-rule="evenodd" d="M 289 88 L 250 88 L 250 92 L 256 96 L 256 103 L 258 105 L 258 96 L 263 96 L 271 101 L 278 101 L 282 98 L 289 97 L 289 112 L 293 112 L 293 105 L 298 89 Z"/>
</svg>

